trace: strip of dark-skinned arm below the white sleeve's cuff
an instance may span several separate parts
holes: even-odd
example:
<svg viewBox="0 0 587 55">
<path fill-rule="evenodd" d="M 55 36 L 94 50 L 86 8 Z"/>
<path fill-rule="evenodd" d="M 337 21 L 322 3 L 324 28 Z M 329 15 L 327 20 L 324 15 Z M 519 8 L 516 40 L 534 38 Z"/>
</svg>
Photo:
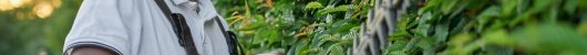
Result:
<svg viewBox="0 0 587 55">
<path fill-rule="evenodd" d="M 114 53 L 100 47 L 81 47 L 73 50 L 71 55 L 114 55 Z"/>
</svg>

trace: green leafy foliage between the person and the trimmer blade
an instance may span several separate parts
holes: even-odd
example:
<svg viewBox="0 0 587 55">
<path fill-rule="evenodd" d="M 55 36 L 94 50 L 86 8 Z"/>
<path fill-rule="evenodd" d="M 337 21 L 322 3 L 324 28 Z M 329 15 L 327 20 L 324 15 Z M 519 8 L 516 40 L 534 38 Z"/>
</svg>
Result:
<svg viewBox="0 0 587 55">
<path fill-rule="evenodd" d="M 367 19 L 369 0 L 237 0 L 216 8 L 246 54 L 343 55 Z M 223 3 L 223 4 L 218 4 Z M 227 4 L 229 3 L 229 4 Z"/>
</svg>

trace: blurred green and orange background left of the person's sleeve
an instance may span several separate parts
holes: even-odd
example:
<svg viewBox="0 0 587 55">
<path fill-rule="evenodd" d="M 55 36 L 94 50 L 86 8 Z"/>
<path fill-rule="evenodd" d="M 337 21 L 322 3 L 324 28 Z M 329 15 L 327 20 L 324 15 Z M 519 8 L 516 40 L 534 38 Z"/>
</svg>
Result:
<svg viewBox="0 0 587 55">
<path fill-rule="evenodd" d="M 82 0 L 0 0 L 0 55 L 61 55 Z"/>
</svg>

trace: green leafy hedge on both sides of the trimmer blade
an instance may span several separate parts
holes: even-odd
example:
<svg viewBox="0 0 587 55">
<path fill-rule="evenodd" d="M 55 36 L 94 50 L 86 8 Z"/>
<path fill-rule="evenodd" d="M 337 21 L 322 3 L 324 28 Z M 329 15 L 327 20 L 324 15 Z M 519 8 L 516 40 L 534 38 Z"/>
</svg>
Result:
<svg viewBox="0 0 587 55">
<path fill-rule="evenodd" d="M 587 0 L 409 0 L 387 55 L 585 55 Z M 342 55 L 373 0 L 217 0 L 247 55 Z"/>
</svg>

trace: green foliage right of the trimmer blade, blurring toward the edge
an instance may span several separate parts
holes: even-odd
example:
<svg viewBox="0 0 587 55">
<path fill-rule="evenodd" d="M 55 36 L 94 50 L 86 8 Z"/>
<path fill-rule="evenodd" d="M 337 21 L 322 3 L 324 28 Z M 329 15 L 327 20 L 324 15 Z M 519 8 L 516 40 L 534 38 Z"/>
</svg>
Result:
<svg viewBox="0 0 587 55">
<path fill-rule="evenodd" d="M 388 55 L 584 55 L 585 0 L 413 0 Z"/>
</svg>

